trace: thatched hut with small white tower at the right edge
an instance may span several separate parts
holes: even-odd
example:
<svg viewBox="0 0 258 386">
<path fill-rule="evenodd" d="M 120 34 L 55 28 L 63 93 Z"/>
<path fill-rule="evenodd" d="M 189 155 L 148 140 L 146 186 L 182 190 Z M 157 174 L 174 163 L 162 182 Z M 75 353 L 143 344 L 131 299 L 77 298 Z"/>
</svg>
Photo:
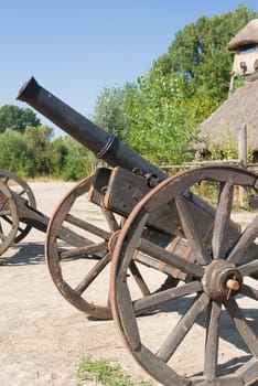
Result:
<svg viewBox="0 0 258 386">
<path fill-rule="evenodd" d="M 201 126 L 203 146 L 198 148 L 223 151 L 238 147 L 238 132 L 247 128 L 248 148 L 258 152 L 258 19 L 251 20 L 227 45 L 236 51 L 232 81 L 245 76 L 245 84 L 214 111 Z M 251 49 L 251 50 L 250 50 Z M 247 51 L 246 51 L 247 50 Z M 230 84 L 230 86 L 233 83 Z M 230 88 L 232 89 L 232 88 Z"/>
</svg>

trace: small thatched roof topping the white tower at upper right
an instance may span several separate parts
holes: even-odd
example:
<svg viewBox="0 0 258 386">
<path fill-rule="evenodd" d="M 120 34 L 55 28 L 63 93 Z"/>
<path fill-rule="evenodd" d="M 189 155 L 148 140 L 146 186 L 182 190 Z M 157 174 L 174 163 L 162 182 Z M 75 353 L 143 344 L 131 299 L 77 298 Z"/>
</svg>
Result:
<svg viewBox="0 0 258 386">
<path fill-rule="evenodd" d="M 229 51 L 246 50 L 258 44 L 258 19 L 252 19 L 227 44 Z"/>
</svg>

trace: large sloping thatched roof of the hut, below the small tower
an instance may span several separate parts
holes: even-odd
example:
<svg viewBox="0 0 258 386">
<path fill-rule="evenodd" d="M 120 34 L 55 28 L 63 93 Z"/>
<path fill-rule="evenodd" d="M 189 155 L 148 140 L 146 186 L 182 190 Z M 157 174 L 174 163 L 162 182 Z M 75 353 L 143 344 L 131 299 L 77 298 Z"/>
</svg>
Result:
<svg viewBox="0 0 258 386">
<path fill-rule="evenodd" d="M 239 128 L 247 126 L 248 147 L 258 150 L 258 72 L 247 78 L 201 126 L 203 148 L 225 149 L 226 141 L 236 146 Z"/>
</svg>

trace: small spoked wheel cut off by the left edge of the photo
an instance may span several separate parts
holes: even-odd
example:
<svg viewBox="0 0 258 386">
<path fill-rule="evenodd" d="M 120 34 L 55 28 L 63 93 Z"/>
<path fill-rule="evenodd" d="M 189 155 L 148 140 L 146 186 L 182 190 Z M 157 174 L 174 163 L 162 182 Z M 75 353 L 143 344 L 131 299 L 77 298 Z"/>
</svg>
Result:
<svg viewBox="0 0 258 386">
<path fill-rule="evenodd" d="M 17 203 L 11 190 L 0 180 L 0 255 L 14 243 L 18 228 Z"/>
</svg>

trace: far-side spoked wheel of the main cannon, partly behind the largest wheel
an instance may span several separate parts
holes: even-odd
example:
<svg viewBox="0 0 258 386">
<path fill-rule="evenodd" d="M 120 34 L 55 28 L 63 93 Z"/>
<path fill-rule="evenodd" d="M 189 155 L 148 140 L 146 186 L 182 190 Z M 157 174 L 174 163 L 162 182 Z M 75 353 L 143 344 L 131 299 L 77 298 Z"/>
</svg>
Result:
<svg viewBox="0 0 258 386">
<path fill-rule="evenodd" d="M 93 181 L 94 175 L 80 181 L 55 208 L 46 230 L 45 256 L 55 286 L 69 303 L 88 317 L 111 319 L 110 260 L 125 218 L 88 201 Z M 160 272 L 159 280 L 149 286 L 148 267 L 155 268 L 157 261 L 144 256 L 141 260 L 130 265 L 131 282 L 139 297 L 178 283 Z"/>
</svg>

